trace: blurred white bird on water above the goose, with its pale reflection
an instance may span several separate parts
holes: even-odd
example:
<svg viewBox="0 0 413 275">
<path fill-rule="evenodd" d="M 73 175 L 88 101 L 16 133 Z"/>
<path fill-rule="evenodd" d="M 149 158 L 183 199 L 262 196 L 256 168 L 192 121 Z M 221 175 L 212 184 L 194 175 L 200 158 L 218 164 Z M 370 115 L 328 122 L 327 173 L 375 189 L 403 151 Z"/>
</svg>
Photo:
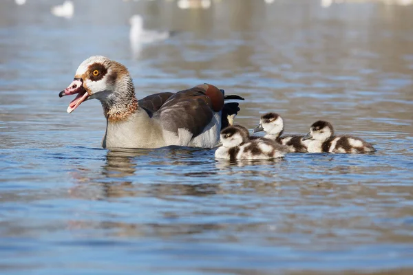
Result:
<svg viewBox="0 0 413 275">
<path fill-rule="evenodd" d="M 169 39 L 174 32 L 145 30 L 143 28 L 143 19 L 140 15 L 135 14 L 129 19 L 131 30 L 129 31 L 129 41 L 135 56 L 138 56 L 142 45 L 156 43 Z"/>
</svg>

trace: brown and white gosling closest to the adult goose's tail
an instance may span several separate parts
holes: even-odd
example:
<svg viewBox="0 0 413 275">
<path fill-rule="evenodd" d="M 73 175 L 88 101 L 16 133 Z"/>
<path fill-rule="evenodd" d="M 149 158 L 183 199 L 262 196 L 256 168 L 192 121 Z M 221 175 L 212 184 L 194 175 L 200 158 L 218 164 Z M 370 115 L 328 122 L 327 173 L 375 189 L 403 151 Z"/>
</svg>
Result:
<svg viewBox="0 0 413 275">
<path fill-rule="evenodd" d="M 215 157 L 218 159 L 273 159 L 284 157 L 285 146 L 266 138 L 250 139 L 248 129 L 241 125 L 226 127 L 221 131 L 221 142 Z"/>
</svg>

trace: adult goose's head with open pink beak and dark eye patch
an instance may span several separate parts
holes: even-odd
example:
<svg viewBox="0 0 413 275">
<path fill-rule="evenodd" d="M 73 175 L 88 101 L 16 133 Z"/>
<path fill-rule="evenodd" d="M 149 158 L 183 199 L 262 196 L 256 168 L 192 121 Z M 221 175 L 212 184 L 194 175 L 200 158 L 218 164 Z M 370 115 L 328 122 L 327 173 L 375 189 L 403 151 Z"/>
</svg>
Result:
<svg viewBox="0 0 413 275">
<path fill-rule="evenodd" d="M 72 83 L 59 97 L 77 94 L 67 107 L 67 113 L 72 113 L 86 100 L 96 98 L 110 106 L 130 93 L 134 94 L 134 87 L 125 66 L 105 56 L 91 56 L 79 65 Z"/>
</svg>

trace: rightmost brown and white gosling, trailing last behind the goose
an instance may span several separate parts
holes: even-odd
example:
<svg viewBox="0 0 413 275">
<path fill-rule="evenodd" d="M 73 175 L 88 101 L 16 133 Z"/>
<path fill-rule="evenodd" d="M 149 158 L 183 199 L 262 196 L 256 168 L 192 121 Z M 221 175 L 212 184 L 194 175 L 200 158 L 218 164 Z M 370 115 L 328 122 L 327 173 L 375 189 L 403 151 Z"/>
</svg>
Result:
<svg viewBox="0 0 413 275">
<path fill-rule="evenodd" d="M 304 137 L 310 140 L 309 153 L 369 153 L 376 151 L 372 144 L 351 135 L 334 135 L 330 122 L 319 120 L 310 126 Z"/>
</svg>

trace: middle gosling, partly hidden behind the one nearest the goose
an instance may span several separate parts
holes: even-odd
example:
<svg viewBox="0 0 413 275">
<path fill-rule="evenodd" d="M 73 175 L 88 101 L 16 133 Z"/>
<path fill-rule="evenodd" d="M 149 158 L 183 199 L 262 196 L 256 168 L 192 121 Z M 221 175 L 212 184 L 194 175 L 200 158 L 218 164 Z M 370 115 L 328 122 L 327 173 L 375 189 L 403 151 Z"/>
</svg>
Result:
<svg viewBox="0 0 413 275">
<path fill-rule="evenodd" d="M 284 131 L 284 120 L 278 113 L 265 113 L 261 116 L 260 124 L 253 133 L 264 131 L 265 138 L 274 140 L 288 148 L 290 153 L 306 153 L 309 140 L 303 140 L 304 135 L 282 135 Z"/>
</svg>

